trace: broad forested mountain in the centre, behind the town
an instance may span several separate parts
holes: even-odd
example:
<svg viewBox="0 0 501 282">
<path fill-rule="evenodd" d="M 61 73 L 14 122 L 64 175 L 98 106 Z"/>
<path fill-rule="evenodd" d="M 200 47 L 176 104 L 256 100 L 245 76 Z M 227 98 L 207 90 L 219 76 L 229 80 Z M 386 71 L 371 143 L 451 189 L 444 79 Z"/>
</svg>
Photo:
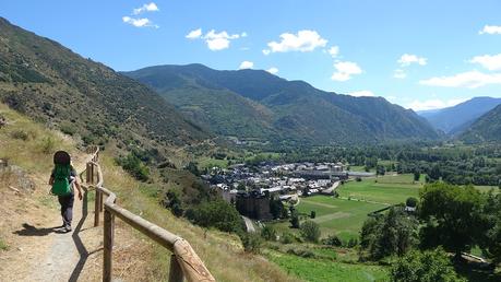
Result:
<svg viewBox="0 0 501 282">
<path fill-rule="evenodd" d="M 218 71 L 203 64 L 123 72 L 216 133 L 264 141 L 367 143 L 437 139 L 413 110 L 382 97 L 353 97 L 287 81 L 262 70 Z"/>
</svg>

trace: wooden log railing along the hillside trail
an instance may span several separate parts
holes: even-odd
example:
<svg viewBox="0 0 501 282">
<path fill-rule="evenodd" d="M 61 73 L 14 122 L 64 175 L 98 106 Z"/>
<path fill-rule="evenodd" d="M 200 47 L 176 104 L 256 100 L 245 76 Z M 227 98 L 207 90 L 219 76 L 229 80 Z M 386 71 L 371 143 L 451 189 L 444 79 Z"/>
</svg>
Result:
<svg viewBox="0 0 501 282">
<path fill-rule="evenodd" d="M 110 282 L 112 277 L 116 216 L 172 252 L 170 256 L 170 282 L 181 282 L 184 278 L 190 282 L 215 281 L 187 240 L 117 204 L 117 196 L 104 187 L 103 172 L 98 164 L 99 150 L 98 148 L 92 148 L 92 150 L 94 150 L 92 160 L 87 162 L 85 169 L 85 186 L 87 189 L 94 188 L 96 192 L 94 226 L 99 225 L 99 214 L 104 210 L 103 281 Z M 103 196 L 107 196 L 105 201 L 103 201 Z"/>
</svg>

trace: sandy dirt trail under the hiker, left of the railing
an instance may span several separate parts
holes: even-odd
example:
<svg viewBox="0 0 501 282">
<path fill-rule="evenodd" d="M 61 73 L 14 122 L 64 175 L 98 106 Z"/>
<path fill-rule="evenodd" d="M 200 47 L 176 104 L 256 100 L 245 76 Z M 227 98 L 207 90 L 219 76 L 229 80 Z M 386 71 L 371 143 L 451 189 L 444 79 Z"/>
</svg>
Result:
<svg viewBox="0 0 501 282">
<path fill-rule="evenodd" d="M 58 200 L 47 195 L 41 178 L 35 179 L 34 195 L 0 189 L 0 228 L 10 243 L 8 251 L 0 251 L 0 281 L 98 280 L 102 232 L 91 228 L 86 199 L 75 196 L 73 231 L 63 233 L 55 228 L 62 225 Z"/>
</svg>

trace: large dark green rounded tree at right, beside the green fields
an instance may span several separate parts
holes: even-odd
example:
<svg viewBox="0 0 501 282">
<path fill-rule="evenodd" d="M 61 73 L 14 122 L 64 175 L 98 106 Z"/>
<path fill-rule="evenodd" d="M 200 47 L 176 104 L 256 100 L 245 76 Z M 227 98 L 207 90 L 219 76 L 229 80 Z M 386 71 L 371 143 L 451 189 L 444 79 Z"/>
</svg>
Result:
<svg viewBox="0 0 501 282">
<path fill-rule="evenodd" d="M 473 186 L 454 186 L 444 183 L 426 185 L 420 190 L 421 246 L 442 245 L 445 250 L 469 250 L 481 232 L 480 209 L 482 197 Z"/>
</svg>

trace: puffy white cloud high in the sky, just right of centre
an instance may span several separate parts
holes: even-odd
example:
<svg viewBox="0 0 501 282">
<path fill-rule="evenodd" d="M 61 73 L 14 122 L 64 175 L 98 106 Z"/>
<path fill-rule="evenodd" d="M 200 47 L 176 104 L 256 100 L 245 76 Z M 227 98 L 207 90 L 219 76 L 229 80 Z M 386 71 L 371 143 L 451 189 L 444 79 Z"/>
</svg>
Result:
<svg viewBox="0 0 501 282">
<path fill-rule="evenodd" d="M 283 33 L 281 42 L 270 42 L 269 49 L 263 50 L 264 55 L 270 52 L 286 51 L 312 51 L 318 47 L 325 47 L 327 40 L 322 38 L 315 31 L 299 31 L 297 34 Z"/>
</svg>

